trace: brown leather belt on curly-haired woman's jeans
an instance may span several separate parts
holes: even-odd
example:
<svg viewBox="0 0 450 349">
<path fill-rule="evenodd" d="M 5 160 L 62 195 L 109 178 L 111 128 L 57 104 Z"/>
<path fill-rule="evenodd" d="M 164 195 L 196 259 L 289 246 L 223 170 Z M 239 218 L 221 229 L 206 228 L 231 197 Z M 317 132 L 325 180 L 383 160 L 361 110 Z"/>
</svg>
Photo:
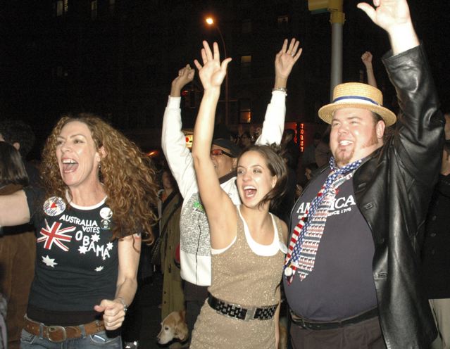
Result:
<svg viewBox="0 0 450 349">
<path fill-rule="evenodd" d="M 83 329 L 85 329 L 84 332 Z M 42 336 L 54 343 L 61 343 L 70 338 L 81 338 L 83 335 L 88 336 L 104 330 L 104 322 L 99 320 L 78 326 L 46 326 L 25 317 L 25 331 L 35 336 Z"/>
</svg>

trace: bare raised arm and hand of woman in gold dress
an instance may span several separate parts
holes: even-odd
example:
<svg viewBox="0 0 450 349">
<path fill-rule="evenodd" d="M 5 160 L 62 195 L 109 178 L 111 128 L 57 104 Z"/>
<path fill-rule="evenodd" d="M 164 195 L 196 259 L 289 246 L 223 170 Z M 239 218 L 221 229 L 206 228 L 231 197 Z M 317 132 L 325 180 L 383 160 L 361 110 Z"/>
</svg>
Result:
<svg viewBox="0 0 450 349">
<path fill-rule="evenodd" d="M 194 127 L 192 158 L 194 158 L 201 201 L 206 210 L 206 215 L 208 215 L 211 247 L 225 248 L 230 245 L 234 237 L 233 232 L 228 229 L 227 223 L 235 222 L 230 217 L 236 215 L 236 212 L 230 197 L 220 187 L 219 179 L 211 161 L 210 150 L 213 140 L 215 108 L 220 96 L 220 85 L 225 78 L 227 65 L 231 58 L 226 58 L 220 64 L 217 43 L 213 44 L 214 52 L 211 52 L 207 42 L 203 42 L 203 46 L 204 48 L 201 49 L 203 66 L 199 61 L 194 61 L 196 68 L 199 69 L 204 95 L 201 99 L 199 115 L 197 115 Z"/>
</svg>

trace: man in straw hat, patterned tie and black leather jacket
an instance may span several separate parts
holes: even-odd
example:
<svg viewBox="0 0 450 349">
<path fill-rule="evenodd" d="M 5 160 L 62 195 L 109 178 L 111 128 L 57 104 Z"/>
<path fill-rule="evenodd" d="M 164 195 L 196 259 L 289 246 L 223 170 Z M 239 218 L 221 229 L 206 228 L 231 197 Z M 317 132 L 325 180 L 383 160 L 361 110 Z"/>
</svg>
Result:
<svg viewBox="0 0 450 349">
<path fill-rule="evenodd" d="M 332 159 L 292 211 L 283 277 L 294 349 L 429 348 L 437 334 L 419 248 L 444 120 L 406 0 L 374 4 L 358 8 L 389 34 L 383 61 L 402 110 L 396 120 L 359 83 L 338 85 L 319 110 Z"/>
</svg>

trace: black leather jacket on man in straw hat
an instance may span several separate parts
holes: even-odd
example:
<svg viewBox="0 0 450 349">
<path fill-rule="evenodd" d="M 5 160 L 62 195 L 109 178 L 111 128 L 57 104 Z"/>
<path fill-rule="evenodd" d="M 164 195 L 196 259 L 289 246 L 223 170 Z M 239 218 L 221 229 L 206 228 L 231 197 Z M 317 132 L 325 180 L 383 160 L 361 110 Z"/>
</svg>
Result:
<svg viewBox="0 0 450 349">
<path fill-rule="evenodd" d="M 387 348 L 429 348 L 437 331 L 420 286 L 420 245 L 439 174 L 444 118 L 421 46 L 385 56 L 383 63 L 402 113 L 394 134 L 356 170 L 356 205 L 375 243 L 373 280 Z"/>
</svg>

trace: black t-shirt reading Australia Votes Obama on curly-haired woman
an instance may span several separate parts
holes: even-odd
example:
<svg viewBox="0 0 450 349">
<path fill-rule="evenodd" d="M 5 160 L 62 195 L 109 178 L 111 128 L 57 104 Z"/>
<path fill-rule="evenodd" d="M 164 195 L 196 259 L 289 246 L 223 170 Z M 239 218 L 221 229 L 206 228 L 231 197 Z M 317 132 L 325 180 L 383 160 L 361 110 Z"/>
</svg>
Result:
<svg viewBox="0 0 450 349">
<path fill-rule="evenodd" d="M 111 241 L 106 198 L 80 207 L 58 197 L 44 201 L 37 189 L 25 193 L 37 234 L 28 317 L 65 326 L 91 322 L 98 315 L 94 305 L 114 298 L 118 277 L 118 241 Z"/>
</svg>

